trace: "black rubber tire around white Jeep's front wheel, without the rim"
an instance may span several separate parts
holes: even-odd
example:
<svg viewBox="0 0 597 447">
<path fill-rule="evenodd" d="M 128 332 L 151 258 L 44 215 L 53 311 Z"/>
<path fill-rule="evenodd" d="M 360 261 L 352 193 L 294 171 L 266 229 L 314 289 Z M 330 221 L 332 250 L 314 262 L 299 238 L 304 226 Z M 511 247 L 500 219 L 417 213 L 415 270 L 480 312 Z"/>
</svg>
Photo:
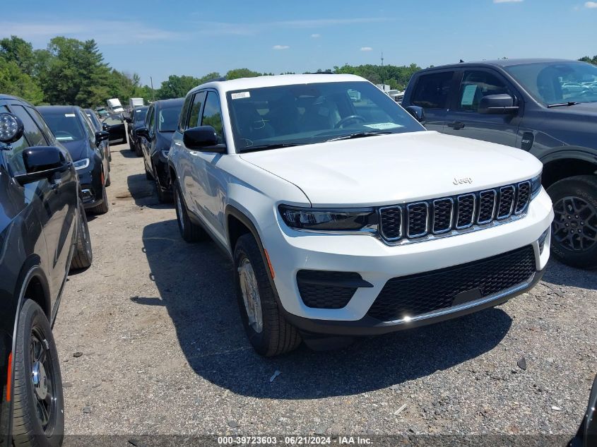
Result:
<svg viewBox="0 0 597 447">
<path fill-rule="evenodd" d="M 237 301 L 242 324 L 254 350 L 264 357 L 272 357 L 295 350 L 300 345 L 300 335 L 297 328 L 286 321 L 278 308 L 264 258 L 261 256 L 261 250 L 252 234 L 243 234 L 238 239 L 235 246 L 234 262 Z M 242 275 L 241 267 L 247 262 L 252 268 L 259 290 L 261 330 L 256 323 L 249 323 L 247 306 L 244 304 L 240 277 Z"/>
</svg>

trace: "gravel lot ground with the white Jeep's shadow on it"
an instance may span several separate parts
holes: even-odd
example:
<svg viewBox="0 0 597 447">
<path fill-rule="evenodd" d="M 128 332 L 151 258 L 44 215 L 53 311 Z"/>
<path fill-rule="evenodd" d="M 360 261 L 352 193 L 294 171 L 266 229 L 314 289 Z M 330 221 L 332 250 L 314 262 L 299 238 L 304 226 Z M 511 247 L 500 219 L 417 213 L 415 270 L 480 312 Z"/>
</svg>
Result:
<svg viewBox="0 0 597 447">
<path fill-rule="evenodd" d="M 225 256 L 182 241 L 128 146 L 112 156 L 110 212 L 89 222 L 93 266 L 69 278 L 54 327 L 67 434 L 577 430 L 597 372 L 597 273 L 550 261 L 495 309 L 264 359 Z"/>
</svg>

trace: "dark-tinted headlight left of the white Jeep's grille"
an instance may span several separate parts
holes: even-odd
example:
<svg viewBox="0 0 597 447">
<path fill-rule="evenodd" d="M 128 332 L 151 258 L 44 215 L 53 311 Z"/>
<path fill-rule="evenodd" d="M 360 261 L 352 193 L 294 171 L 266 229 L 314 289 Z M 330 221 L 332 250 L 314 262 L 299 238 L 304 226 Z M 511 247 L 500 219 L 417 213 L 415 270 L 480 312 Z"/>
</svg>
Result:
<svg viewBox="0 0 597 447">
<path fill-rule="evenodd" d="M 322 210 L 280 205 L 278 210 L 285 224 L 297 230 L 360 231 L 377 225 L 373 208 Z"/>
</svg>

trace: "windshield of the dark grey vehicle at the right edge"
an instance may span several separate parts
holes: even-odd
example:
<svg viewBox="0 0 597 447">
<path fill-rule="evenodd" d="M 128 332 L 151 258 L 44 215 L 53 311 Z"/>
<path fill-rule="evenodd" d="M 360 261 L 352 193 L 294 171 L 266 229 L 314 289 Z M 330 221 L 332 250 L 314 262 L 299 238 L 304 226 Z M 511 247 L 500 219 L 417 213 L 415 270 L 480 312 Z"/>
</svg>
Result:
<svg viewBox="0 0 597 447">
<path fill-rule="evenodd" d="M 597 66 L 547 62 L 504 67 L 538 102 L 597 102 Z"/>
</svg>

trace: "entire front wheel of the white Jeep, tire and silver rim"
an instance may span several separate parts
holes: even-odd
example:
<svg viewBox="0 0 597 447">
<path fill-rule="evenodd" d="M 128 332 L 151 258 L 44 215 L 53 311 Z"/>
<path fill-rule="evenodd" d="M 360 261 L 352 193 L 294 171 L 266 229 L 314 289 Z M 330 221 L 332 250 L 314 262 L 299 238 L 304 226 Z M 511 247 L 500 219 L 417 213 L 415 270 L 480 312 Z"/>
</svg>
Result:
<svg viewBox="0 0 597 447">
<path fill-rule="evenodd" d="M 238 239 L 234 262 L 242 323 L 254 350 L 266 357 L 295 350 L 300 345 L 300 335 L 278 309 L 263 256 L 252 234 Z"/>
</svg>

